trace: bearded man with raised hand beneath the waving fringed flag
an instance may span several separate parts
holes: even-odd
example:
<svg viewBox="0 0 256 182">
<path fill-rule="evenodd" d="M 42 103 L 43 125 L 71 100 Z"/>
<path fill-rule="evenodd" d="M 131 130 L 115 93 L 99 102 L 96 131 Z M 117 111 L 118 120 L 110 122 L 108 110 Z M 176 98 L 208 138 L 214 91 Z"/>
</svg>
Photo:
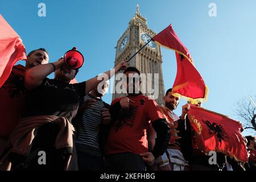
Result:
<svg viewBox="0 0 256 182">
<path fill-rule="evenodd" d="M 189 165 L 181 152 L 181 143 L 183 143 L 182 139 L 185 135 L 185 116 L 189 109 L 189 104 L 182 107 L 182 114 L 179 118 L 174 113 L 179 104 L 179 97 L 175 97 L 172 89 L 168 89 L 163 99 L 165 105 L 162 105 L 160 110 L 171 128 L 171 137 L 166 152 L 156 159 L 156 164 L 160 171 L 184 171 Z M 154 133 L 154 130 L 152 133 Z"/>
</svg>

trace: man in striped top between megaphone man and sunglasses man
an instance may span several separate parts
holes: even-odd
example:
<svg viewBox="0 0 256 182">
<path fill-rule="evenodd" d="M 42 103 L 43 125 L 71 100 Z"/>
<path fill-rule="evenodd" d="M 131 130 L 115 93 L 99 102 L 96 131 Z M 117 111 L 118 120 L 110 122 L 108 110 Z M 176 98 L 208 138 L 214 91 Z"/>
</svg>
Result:
<svg viewBox="0 0 256 182">
<path fill-rule="evenodd" d="M 84 97 L 79 109 L 77 123 L 77 159 L 79 170 L 100 171 L 102 169 L 104 148 L 100 131 L 110 122 L 109 104 L 102 101 L 102 96 L 109 88 L 109 80 L 102 82 Z"/>
</svg>

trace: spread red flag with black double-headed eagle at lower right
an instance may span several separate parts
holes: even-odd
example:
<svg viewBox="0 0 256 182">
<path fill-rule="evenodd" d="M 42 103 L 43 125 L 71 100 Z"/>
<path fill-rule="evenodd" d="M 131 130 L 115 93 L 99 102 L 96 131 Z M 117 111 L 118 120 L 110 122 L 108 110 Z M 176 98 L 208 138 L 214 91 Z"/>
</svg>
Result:
<svg viewBox="0 0 256 182">
<path fill-rule="evenodd" d="M 248 162 L 240 122 L 194 105 L 188 111 L 188 118 L 196 134 L 194 141 L 201 151 L 218 151 L 240 162 Z"/>
</svg>

